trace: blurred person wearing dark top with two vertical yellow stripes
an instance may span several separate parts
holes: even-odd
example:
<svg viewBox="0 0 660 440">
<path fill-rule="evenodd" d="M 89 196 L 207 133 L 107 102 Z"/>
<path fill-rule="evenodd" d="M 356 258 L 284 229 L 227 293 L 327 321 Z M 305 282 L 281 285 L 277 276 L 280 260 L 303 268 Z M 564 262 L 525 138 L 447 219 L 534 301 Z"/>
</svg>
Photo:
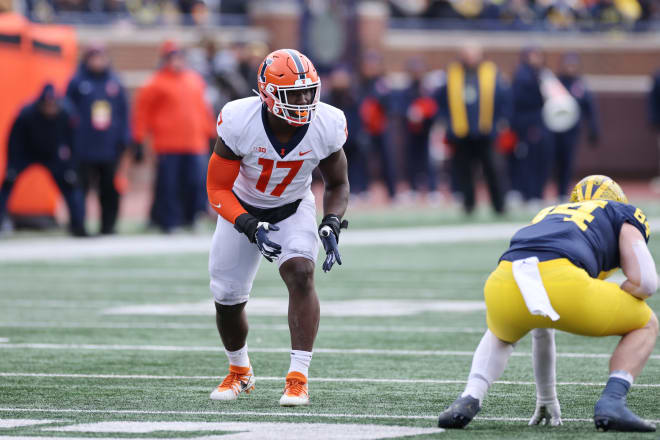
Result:
<svg viewBox="0 0 660 440">
<path fill-rule="evenodd" d="M 507 94 L 497 67 L 491 61 L 484 61 L 481 47 L 474 44 L 461 50 L 460 62 L 449 65 L 447 82 L 438 91 L 440 117 L 448 125 L 447 141 L 454 149 L 453 165 L 467 213 L 475 206 L 474 165 L 479 162 L 493 208 L 497 213 L 504 212 L 493 141 L 498 126 L 507 124 Z"/>
</svg>

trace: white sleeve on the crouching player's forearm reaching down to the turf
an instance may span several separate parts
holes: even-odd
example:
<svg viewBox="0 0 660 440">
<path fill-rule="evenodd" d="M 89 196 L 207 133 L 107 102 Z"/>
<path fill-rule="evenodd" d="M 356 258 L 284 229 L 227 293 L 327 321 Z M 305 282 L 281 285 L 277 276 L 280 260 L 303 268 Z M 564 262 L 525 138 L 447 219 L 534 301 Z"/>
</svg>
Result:
<svg viewBox="0 0 660 440">
<path fill-rule="evenodd" d="M 532 360 L 536 379 L 536 400 L 552 403 L 557 399 L 555 331 L 551 328 L 532 330 Z"/>
</svg>

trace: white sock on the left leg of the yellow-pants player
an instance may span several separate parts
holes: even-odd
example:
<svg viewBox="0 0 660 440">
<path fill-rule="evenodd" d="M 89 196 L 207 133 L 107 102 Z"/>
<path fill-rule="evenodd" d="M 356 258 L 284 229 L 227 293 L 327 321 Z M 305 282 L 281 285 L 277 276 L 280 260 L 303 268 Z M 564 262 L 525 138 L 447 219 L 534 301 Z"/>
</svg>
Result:
<svg viewBox="0 0 660 440">
<path fill-rule="evenodd" d="M 488 388 L 504 372 L 511 353 L 513 353 L 513 344 L 499 340 L 487 330 L 474 352 L 468 383 L 461 397 L 472 396 L 479 399 L 481 405 Z"/>
</svg>

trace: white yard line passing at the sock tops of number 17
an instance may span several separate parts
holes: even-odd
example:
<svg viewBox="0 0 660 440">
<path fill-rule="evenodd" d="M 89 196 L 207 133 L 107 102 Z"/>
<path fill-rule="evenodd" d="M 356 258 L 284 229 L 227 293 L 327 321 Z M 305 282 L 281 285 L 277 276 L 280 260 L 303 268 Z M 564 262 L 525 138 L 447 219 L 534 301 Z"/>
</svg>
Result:
<svg viewBox="0 0 660 440">
<path fill-rule="evenodd" d="M 51 343 L 0 343 L 0 349 L 45 349 L 45 350 L 124 350 L 124 351 L 181 351 L 181 352 L 216 352 L 220 347 L 185 346 L 185 345 L 122 345 L 122 344 L 51 344 Z M 252 353 L 289 353 L 290 348 L 250 348 Z M 368 354 L 380 356 L 472 356 L 472 351 L 453 350 L 398 350 L 375 348 L 315 348 L 315 353 L 323 354 Z M 514 352 L 513 356 L 530 357 L 529 352 Z M 611 353 L 557 353 L 558 357 L 577 359 L 609 359 Z M 649 359 L 660 359 L 660 355 L 651 355 Z"/>
</svg>

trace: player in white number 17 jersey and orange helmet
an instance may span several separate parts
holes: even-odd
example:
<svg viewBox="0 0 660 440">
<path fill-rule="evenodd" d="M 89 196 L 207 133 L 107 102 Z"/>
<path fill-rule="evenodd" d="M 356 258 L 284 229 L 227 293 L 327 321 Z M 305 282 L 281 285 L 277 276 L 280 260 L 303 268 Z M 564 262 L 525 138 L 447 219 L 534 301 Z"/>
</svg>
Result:
<svg viewBox="0 0 660 440">
<path fill-rule="evenodd" d="M 319 102 L 316 69 L 296 50 L 269 54 L 257 83 L 259 97 L 232 101 L 222 109 L 209 162 L 209 201 L 220 214 L 209 273 L 218 332 L 229 358 L 229 374 L 211 399 L 235 400 L 254 388 L 244 309 L 263 255 L 277 260 L 289 291 L 291 366 L 280 405 L 307 405 L 320 315 L 314 289 L 319 244 L 312 171 L 318 166 L 325 181 L 318 235 L 326 251 L 323 270 L 328 271 L 335 262 L 341 264 L 337 242 L 346 226 L 341 220 L 349 193 L 342 150 L 346 118 Z"/>
</svg>

